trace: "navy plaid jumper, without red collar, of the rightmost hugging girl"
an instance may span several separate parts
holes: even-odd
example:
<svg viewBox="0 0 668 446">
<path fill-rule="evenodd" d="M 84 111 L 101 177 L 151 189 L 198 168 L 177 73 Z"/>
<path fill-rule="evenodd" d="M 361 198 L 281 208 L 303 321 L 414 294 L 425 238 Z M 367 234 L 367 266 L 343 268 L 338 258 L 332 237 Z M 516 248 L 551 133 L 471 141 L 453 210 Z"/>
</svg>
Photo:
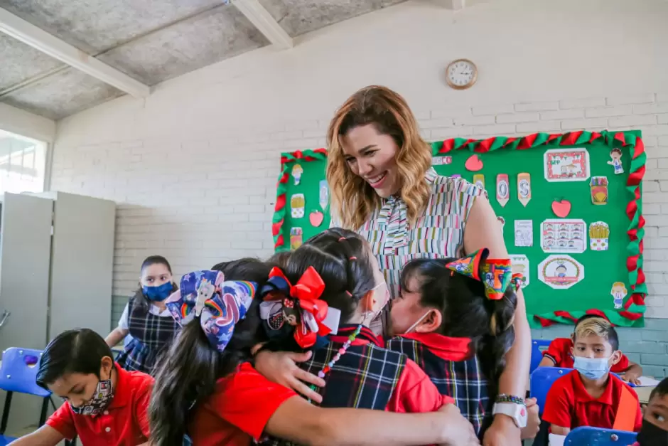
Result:
<svg viewBox="0 0 668 446">
<path fill-rule="evenodd" d="M 492 406 L 496 395 L 490 395 L 491 383 L 481 370 L 475 354 L 462 361 L 449 361 L 434 354 L 421 341 L 404 337 L 392 338 L 385 346 L 412 359 L 429 376 L 441 395 L 454 398 L 461 414 L 470 421 L 482 440 L 485 430 L 492 424 Z"/>
</svg>

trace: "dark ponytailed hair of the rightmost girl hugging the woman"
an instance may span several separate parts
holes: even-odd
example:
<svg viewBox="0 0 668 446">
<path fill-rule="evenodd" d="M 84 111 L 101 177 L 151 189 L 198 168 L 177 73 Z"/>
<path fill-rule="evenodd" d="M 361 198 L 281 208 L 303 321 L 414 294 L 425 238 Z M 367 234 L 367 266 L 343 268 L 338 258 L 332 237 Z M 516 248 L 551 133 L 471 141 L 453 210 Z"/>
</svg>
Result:
<svg viewBox="0 0 668 446">
<path fill-rule="evenodd" d="M 512 322 L 517 296 L 511 285 L 502 299 L 489 299 L 483 282 L 446 268 L 453 260 L 411 260 L 402 270 L 401 289 L 410 290 L 408 282 L 414 277 L 419 290 L 410 291 L 419 292 L 420 304 L 441 312 L 438 333 L 470 338 L 487 378 L 496 382 L 505 367 L 505 354 L 515 341 Z"/>
</svg>

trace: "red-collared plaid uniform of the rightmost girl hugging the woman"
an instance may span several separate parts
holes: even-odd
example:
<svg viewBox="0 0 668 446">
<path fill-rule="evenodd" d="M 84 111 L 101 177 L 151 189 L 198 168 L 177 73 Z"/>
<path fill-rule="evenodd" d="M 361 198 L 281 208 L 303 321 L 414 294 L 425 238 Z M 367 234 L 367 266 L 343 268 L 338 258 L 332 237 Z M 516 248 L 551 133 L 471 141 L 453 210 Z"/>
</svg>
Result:
<svg viewBox="0 0 668 446">
<path fill-rule="evenodd" d="M 387 341 L 387 349 L 408 356 L 426 373 L 441 395 L 455 400 L 478 437 L 492 424 L 493 385 L 470 348 L 469 338 L 437 333 L 409 333 Z"/>
</svg>

